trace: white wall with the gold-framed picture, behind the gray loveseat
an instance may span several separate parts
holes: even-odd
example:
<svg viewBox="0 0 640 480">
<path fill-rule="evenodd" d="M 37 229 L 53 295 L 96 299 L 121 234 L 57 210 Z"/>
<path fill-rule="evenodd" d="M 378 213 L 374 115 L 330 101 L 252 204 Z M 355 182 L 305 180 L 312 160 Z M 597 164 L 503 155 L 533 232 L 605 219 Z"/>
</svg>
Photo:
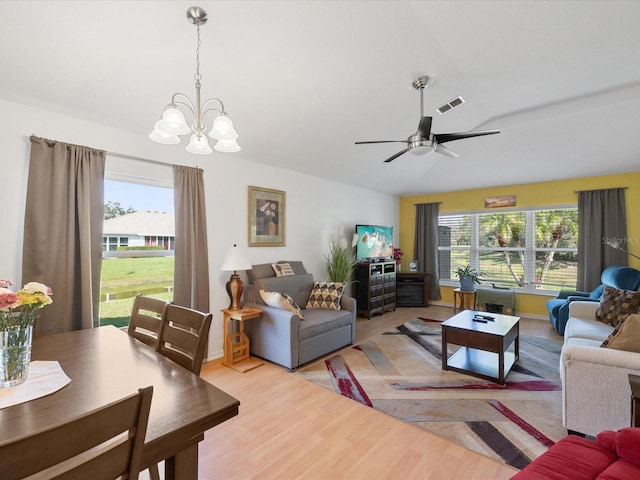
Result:
<svg viewBox="0 0 640 480">
<path fill-rule="evenodd" d="M 200 157 L 180 146 L 151 142 L 146 135 L 68 117 L 0 99 L 0 278 L 20 283 L 24 203 L 30 135 L 148 158 L 167 164 L 198 166 L 204 170 L 209 236 L 211 325 L 209 357 L 222 356 L 222 314 L 229 303 L 220 271 L 227 249 L 237 243 L 253 264 L 302 260 L 317 279 L 324 279 L 322 255 L 328 236 L 343 225 L 347 233 L 356 223 L 396 225 L 397 197 L 351 187 L 289 170 L 269 167 L 236 154 Z M 10 121 L 9 121 L 10 119 Z M 151 128 L 151 127 L 150 127 Z M 183 142 L 184 143 L 184 142 Z M 268 154 L 268 152 L 266 152 Z M 172 170 L 133 160 L 110 157 L 108 167 L 142 177 L 171 178 Z M 116 172 L 117 173 L 117 172 Z M 247 187 L 286 192 L 285 247 L 247 247 Z M 395 229 L 397 235 L 398 229 Z M 398 239 L 394 239 L 398 244 Z"/>
</svg>

